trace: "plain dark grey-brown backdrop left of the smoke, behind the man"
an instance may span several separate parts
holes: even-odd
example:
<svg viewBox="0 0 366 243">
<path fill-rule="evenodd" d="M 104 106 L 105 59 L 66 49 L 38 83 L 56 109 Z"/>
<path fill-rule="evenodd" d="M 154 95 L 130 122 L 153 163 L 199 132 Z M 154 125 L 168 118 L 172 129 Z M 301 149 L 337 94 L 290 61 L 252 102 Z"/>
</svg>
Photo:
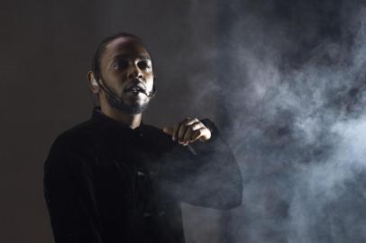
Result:
<svg viewBox="0 0 366 243">
<path fill-rule="evenodd" d="M 201 4 L 194 13 L 189 1 L 2 1 L 1 242 L 52 241 L 42 165 L 53 139 L 91 115 L 87 71 L 107 35 L 132 32 L 151 51 L 158 94 L 144 122 L 215 115 L 215 105 L 188 105 L 188 77 L 210 68 L 197 49 L 215 42 L 215 3 Z"/>
</svg>

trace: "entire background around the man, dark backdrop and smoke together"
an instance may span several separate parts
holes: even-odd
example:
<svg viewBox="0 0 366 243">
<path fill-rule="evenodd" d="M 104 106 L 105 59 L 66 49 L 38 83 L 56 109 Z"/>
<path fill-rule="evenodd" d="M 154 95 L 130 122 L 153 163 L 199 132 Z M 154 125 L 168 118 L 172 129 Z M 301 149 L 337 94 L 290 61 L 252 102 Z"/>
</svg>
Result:
<svg viewBox="0 0 366 243">
<path fill-rule="evenodd" d="M 94 106 L 98 42 L 145 40 L 158 94 L 144 122 L 216 122 L 242 168 L 243 205 L 184 204 L 188 242 L 366 239 L 363 1 L 3 1 L 0 241 L 52 242 L 42 166 Z"/>
</svg>

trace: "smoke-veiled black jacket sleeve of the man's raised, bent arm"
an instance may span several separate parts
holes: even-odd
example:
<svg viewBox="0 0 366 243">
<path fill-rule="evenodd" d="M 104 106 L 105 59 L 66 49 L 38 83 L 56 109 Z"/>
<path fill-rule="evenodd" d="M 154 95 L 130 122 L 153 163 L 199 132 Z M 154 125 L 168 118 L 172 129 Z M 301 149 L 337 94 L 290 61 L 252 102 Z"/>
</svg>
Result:
<svg viewBox="0 0 366 243">
<path fill-rule="evenodd" d="M 212 132 L 206 142 L 174 146 L 162 159 L 160 190 L 193 205 L 232 209 L 242 203 L 242 175 L 232 150 L 215 124 L 202 122 Z"/>
</svg>

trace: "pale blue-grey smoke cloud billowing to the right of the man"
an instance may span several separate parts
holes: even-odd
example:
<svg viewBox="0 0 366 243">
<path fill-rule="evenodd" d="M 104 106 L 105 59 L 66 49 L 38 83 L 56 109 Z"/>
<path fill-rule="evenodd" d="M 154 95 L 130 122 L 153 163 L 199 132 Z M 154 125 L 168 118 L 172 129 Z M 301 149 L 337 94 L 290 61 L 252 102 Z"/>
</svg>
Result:
<svg viewBox="0 0 366 243">
<path fill-rule="evenodd" d="M 196 103 L 219 97 L 244 177 L 223 242 L 363 242 L 366 4 L 228 3 L 200 52 L 217 77 L 191 79 Z"/>
</svg>

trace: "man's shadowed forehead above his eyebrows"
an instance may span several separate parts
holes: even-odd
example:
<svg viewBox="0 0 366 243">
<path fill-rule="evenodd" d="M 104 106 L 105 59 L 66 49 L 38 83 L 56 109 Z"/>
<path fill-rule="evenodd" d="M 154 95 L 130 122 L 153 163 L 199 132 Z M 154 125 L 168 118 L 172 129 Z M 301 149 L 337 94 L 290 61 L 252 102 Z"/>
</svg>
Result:
<svg viewBox="0 0 366 243">
<path fill-rule="evenodd" d="M 103 59 L 108 60 L 117 56 L 131 58 L 145 57 L 151 59 L 149 52 L 142 45 L 141 41 L 131 37 L 120 37 L 109 42 L 105 46 L 102 62 Z"/>
</svg>

